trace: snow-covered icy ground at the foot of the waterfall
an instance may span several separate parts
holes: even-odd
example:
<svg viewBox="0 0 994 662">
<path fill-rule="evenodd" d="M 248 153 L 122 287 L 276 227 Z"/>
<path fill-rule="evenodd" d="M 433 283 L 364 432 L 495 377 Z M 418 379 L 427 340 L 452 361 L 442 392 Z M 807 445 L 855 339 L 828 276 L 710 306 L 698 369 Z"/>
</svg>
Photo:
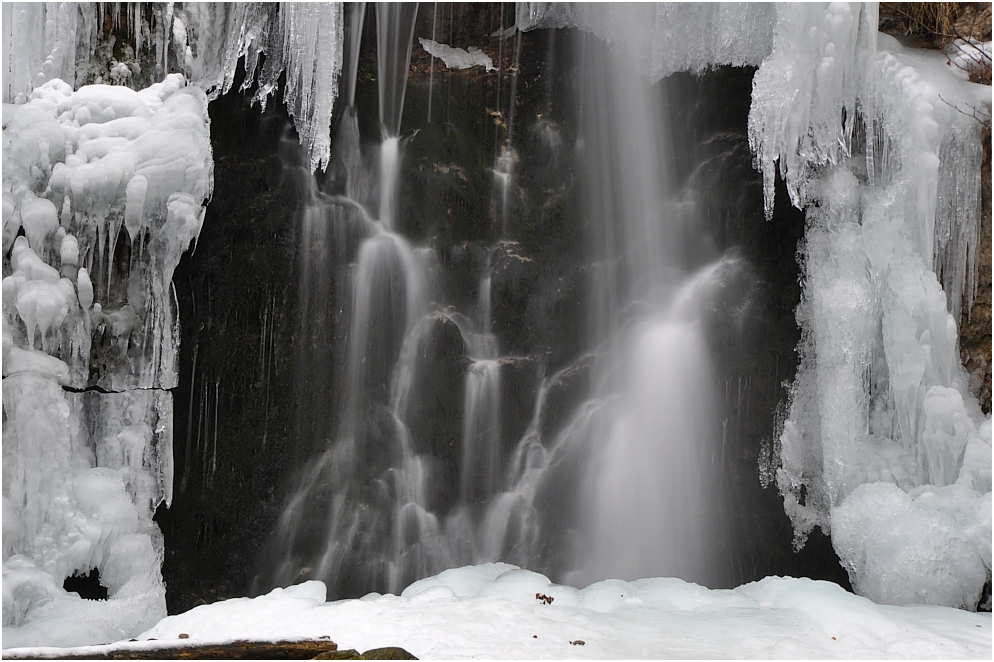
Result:
<svg viewBox="0 0 994 662">
<path fill-rule="evenodd" d="M 324 584 L 306 582 L 196 607 L 111 646 L 321 636 L 340 649 L 401 646 L 422 659 L 991 658 L 989 613 L 877 605 L 829 582 L 781 577 L 733 590 L 679 579 L 579 590 L 503 563 L 447 570 L 400 596 L 325 602 Z M 85 650 L 94 649 L 72 652 Z"/>
</svg>

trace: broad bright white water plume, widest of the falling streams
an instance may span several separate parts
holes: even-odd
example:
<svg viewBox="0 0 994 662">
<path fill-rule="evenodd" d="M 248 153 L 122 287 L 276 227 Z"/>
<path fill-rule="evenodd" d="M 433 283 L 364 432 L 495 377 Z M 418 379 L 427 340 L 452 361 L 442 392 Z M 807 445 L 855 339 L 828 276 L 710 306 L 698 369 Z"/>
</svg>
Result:
<svg viewBox="0 0 994 662">
<path fill-rule="evenodd" d="M 593 39 L 583 47 L 595 48 Z M 584 69 L 595 388 L 555 441 L 545 479 L 579 485 L 566 577 L 577 585 L 660 575 L 713 585 L 717 409 L 702 313 L 714 280 L 735 270 L 726 260 L 687 275 L 699 256 L 715 255 L 699 246 L 694 215 L 672 202 L 661 90 L 622 53 L 598 52 Z M 554 515 L 543 490 L 557 489 L 539 488 L 545 521 Z"/>
</svg>

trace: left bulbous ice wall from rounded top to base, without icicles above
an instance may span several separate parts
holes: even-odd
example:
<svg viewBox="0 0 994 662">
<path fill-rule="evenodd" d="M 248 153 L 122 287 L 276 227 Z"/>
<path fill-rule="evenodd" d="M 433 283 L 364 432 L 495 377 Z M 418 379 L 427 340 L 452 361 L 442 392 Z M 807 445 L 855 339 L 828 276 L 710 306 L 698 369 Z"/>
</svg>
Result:
<svg viewBox="0 0 994 662">
<path fill-rule="evenodd" d="M 172 273 L 213 184 L 207 97 L 53 78 L 3 106 L 3 644 L 165 616 Z M 92 387 L 99 387 L 94 390 Z M 63 589 L 96 569 L 106 601 Z"/>
</svg>

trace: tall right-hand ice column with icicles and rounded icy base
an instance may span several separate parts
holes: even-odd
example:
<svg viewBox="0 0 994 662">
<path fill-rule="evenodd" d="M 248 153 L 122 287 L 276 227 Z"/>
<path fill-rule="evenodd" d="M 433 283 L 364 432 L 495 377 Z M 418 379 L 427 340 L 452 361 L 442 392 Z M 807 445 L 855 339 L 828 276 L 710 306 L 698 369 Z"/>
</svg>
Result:
<svg viewBox="0 0 994 662">
<path fill-rule="evenodd" d="M 808 212 L 777 484 L 795 542 L 831 531 L 861 595 L 972 609 L 991 576 L 991 422 L 956 320 L 990 87 L 876 25 L 872 6 L 785 6 L 754 82 L 767 211 L 779 166 Z"/>
</svg>

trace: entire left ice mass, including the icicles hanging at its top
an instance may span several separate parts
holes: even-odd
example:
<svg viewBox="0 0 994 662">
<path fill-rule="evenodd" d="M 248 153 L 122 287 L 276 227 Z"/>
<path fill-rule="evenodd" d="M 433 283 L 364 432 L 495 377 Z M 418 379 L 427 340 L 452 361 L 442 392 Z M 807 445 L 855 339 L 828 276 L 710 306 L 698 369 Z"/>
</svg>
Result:
<svg viewBox="0 0 994 662">
<path fill-rule="evenodd" d="M 152 515 L 172 491 L 171 281 L 213 184 L 207 103 L 242 56 L 262 105 L 285 73 L 325 165 L 341 23 L 340 3 L 4 4 L 5 647 L 165 616 Z M 120 38 L 127 62 L 110 57 Z M 93 569 L 108 600 L 63 589 Z"/>
</svg>

